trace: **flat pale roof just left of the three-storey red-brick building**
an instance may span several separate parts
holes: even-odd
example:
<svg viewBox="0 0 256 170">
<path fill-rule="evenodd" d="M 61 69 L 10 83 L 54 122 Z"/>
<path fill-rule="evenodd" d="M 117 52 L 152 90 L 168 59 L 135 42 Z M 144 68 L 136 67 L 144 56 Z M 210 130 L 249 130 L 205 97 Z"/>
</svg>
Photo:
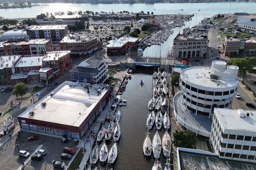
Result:
<svg viewBox="0 0 256 170">
<path fill-rule="evenodd" d="M 19 62 L 15 66 L 18 67 L 34 67 L 34 66 L 41 66 L 42 59 L 44 56 L 39 57 L 22 57 L 20 58 Z M 23 71 L 23 70 L 22 70 Z"/>
</svg>

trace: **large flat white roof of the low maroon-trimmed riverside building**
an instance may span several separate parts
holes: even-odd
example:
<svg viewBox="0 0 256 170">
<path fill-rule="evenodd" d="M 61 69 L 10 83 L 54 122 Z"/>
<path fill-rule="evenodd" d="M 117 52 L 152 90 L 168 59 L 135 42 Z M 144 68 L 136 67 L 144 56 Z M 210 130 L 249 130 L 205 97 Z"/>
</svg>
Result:
<svg viewBox="0 0 256 170">
<path fill-rule="evenodd" d="M 89 86 L 89 94 L 87 88 L 84 88 L 86 86 Z M 54 90 L 52 97 L 48 94 L 19 117 L 79 127 L 108 91 L 108 87 L 103 88 L 101 95 L 97 96 L 97 89 L 100 87 L 107 86 L 64 82 Z M 42 106 L 42 102 L 46 106 Z M 29 114 L 31 111 L 34 112 L 33 116 Z"/>
</svg>

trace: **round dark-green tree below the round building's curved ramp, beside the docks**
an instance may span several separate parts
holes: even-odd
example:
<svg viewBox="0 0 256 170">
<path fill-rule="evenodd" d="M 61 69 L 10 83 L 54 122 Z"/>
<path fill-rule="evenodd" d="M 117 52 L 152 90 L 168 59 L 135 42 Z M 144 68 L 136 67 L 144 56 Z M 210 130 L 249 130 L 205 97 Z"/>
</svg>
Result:
<svg viewBox="0 0 256 170">
<path fill-rule="evenodd" d="M 197 142 L 196 135 L 191 131 L 175 131 L 172 143 L 175 148 L 193 148 Z"/>
</svg>

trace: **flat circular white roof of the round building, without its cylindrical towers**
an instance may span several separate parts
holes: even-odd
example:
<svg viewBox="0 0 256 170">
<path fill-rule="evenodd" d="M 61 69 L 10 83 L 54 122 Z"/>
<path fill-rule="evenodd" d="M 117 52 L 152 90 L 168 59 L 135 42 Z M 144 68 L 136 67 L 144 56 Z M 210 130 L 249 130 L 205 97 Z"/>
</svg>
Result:
<svg viewBox="0 0 256 170">
<path fill-rule="evenodd" d="M 225 70 L 223 71 L 225 72 Z M 224 88 L 232 87 L 238 83 L 238 79 L 219 79 L 219 81 L 213 81 L 210 79 L 209 72 L 211 72 L 211 69 L 209 67 L 189 67 L 184 69 L 181 75 L 183 79 L 205 87 Z M 222 84 L 225 84 L 225 86 L 222 86 Z"/>
</svg>

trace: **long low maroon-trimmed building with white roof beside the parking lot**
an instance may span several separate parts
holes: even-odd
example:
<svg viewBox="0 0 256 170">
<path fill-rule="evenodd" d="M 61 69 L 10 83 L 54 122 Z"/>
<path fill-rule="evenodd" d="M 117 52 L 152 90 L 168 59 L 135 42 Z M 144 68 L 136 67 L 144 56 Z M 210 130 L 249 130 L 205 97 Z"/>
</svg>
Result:
<svg viewBox="0 0 256 170">
<path fill-rule="evenodd" d="M 20 129 L 81 139 L 109 100 L 106 84 L 64 82 L 18 116 Z"/>
</svg>

